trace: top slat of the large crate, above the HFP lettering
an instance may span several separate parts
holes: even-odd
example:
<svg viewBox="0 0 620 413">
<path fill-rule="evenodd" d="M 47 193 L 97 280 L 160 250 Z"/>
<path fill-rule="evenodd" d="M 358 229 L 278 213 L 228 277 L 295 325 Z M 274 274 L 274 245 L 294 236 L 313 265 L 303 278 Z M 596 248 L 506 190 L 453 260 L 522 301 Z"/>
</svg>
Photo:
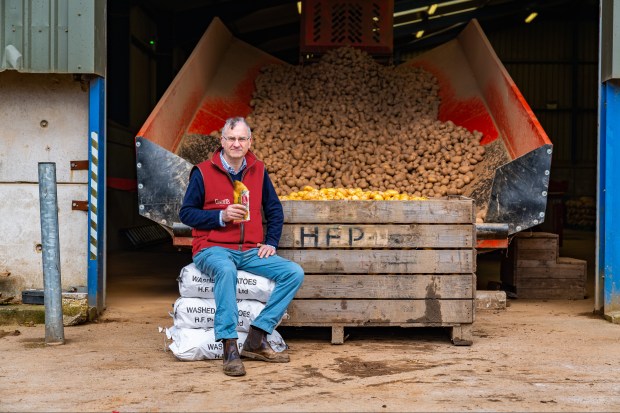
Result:
<svg viewBox="0 0 620 413">
<path fill-rule="evenodd" d="M 471 224 L 471 199 L 428 201 L 282 201 L 284 222 L 355 224 Z"/>
</svg>

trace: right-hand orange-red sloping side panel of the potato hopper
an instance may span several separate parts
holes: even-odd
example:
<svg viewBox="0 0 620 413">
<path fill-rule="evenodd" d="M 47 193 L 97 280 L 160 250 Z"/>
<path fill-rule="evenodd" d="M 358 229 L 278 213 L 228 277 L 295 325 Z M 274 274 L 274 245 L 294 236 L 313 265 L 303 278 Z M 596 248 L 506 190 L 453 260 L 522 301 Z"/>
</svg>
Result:
<svg viewBox="0 0 620 413">
<path fill-rule="evenodd" d="M 420 66 L 437 78 L 439 120 L 482 132 L 482 144 L 501 137 L 511 159 L 551 144 L 477 21 L 457 39 L 405 64 Z"/>
</svg>

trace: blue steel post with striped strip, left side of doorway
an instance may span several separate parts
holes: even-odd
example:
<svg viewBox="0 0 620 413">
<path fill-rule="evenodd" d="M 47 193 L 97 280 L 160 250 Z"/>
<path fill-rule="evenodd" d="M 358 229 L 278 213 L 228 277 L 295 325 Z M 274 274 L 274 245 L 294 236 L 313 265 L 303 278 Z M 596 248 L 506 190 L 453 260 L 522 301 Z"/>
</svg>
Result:
<svg viewBox="0 0 620 413">
<path fill-rule="evenodd" d="M 88 183 L 88 305 L 97 312 L 105 300 L 105 83 L 90 82 Z"/>
</svg>

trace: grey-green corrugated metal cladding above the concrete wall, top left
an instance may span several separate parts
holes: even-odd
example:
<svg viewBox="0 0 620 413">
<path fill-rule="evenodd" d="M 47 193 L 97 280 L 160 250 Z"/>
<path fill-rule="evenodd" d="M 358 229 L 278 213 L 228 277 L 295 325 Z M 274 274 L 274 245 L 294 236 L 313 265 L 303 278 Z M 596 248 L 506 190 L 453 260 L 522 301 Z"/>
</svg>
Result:
<svg viewBox="0 0 620 413">
<path fill-rule="evenodd" d="M 105 76 L 105 0 L 0 0 L 0 71 Z"/>
</svg>

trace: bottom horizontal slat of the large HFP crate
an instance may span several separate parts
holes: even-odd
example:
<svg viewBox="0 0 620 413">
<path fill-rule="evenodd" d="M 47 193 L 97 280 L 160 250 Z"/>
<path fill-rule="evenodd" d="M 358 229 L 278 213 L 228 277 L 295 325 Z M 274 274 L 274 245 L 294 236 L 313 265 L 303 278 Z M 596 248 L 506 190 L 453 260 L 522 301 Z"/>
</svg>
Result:
<svg viewBox="0 0 620 413">
<path fill-rule="evenodd" d="M 283 325 L 472 323 L 473 300 L 293 300 Z"/>
</svg>

